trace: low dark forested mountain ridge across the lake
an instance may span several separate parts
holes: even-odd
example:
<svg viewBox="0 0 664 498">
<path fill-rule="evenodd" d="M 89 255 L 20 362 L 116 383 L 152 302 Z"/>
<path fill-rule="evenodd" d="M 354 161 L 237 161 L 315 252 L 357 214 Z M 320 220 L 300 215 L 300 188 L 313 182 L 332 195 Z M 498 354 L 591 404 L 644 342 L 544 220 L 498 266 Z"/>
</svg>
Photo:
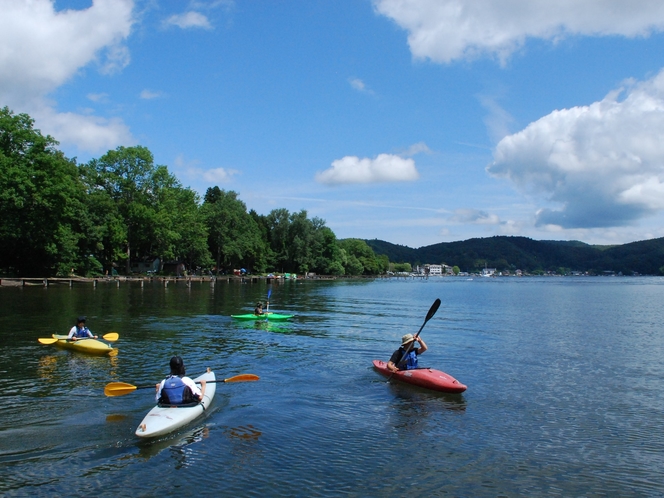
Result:
<svg viewBox="0 0 664 498">
<path fill-rule="evenodd" d="M 589 245 L 577 240 L 533 240 L 527 237 L 494 236 L 458 242 L 441 242 L 413 249 L 373 239 L 365 242 L 376 255 L 411 265 L 446 264 L 476 272 L 485 266 L 498 271 L 566 271 L 590 274 L 664 274 L 664 238 L 615 246 Z"/>
</svg>

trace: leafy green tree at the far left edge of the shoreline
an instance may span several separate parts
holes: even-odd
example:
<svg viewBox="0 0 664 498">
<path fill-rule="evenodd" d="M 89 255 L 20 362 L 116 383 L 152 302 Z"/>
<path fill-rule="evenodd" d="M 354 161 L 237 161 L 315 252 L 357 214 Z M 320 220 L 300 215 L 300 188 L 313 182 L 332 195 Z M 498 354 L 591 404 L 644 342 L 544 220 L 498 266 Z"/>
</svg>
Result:
<svg viewBox="0 0 664 498">
<path fill-rule="evenodd" d="M 33 126 L 0 109 L 0 268 L 67 275 L 84 259 L 85 190 L 75 161 Z"/>
</svg>

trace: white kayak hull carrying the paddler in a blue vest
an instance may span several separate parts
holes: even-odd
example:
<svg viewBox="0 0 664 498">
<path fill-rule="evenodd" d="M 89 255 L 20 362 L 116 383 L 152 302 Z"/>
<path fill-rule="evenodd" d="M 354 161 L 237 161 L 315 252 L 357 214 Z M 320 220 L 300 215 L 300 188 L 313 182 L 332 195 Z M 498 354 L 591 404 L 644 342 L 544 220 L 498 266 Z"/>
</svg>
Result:
<svg viewBox="0 0 664 498">
<path fill-rule="evenodd" d="M 194 382 L 200 384 L 201 380 L 208 382 L 205 386 L 203 401 L 194 406 L 155 406 L 148 412 L 138 426 L 138 429 L 136 429 L 136 435 L 138 437 L 163 436 L 200 417 L 210 406 L 210 403 L 212 403 L 214 393 L 217 389 L 216 383 L 210 383 L 210 381 L 214 381 L 216 378 L 214 372 L 209 368 L 206 373 L 200 377 L 196 377 Z"/>
</svg>

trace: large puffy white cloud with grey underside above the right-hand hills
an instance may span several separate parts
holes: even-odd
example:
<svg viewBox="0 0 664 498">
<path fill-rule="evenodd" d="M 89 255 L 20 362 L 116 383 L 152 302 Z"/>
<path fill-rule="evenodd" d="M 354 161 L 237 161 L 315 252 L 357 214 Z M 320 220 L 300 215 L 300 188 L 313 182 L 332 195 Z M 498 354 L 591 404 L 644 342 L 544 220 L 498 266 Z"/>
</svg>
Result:
<svg viewBox="0 0 664 498">
<path fill-rule="evenodd" d="M 559 208 L 539 225 L 626 226 L 664 209 L 664 70 L 503 138 L 487 171 Z"/>
</svg>

